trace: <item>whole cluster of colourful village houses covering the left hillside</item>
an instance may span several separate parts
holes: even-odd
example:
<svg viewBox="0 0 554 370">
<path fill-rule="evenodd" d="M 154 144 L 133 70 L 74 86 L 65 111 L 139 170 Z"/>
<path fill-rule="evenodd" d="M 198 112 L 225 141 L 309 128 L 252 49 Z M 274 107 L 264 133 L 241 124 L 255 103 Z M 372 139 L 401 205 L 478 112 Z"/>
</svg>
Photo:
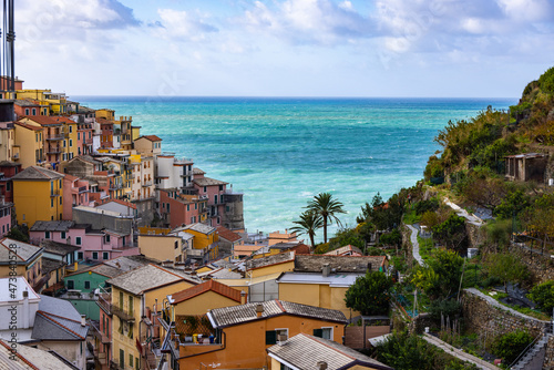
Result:
<svg viewBox="0 0 554 370">
<path fill-rule="evenodd" d="M 20 80 L 0 97 L 0 363 L 389 369 L 343 299 L 386 257 L 248 234 L 242 193 L 130 116 Z"/>
</svg>

